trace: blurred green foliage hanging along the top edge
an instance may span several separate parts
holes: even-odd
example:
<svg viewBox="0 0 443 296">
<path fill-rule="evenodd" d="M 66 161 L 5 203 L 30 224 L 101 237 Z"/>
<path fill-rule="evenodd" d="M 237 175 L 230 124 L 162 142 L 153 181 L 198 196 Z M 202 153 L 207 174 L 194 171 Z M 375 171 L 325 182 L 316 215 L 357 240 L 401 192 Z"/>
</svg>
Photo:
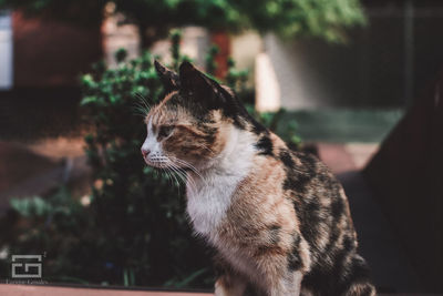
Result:
<svg viewBox="0 0 443 296">
<path fill-rule="evenodd" d="M 230 32 L 251 28 L 285 38 L 338 42 L 346 39 L 344 28 L 365 22 L 359 0 L 0 0 L 0 8 L 89 23 L 101 20 L 107 2 L 140 25 L 145 45 L 169 28 L 186 24 Z"/>
</svg>

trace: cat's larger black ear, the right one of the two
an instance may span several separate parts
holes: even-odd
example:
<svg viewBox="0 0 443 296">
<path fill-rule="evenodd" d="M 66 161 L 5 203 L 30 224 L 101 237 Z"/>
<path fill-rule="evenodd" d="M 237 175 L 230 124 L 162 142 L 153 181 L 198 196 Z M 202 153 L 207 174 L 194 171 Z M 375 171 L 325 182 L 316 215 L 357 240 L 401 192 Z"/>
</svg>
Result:
<svg viewBox="0 0 443 296">
<path fill-rule="evenodd" d="M 181 92 L 206 103 L 218 101 L 220 85 L 198 71 L 192 63 L 183 62 L 179 67 Z M 218 102 L 220 103 L 220 102 Z"/>
</svg>

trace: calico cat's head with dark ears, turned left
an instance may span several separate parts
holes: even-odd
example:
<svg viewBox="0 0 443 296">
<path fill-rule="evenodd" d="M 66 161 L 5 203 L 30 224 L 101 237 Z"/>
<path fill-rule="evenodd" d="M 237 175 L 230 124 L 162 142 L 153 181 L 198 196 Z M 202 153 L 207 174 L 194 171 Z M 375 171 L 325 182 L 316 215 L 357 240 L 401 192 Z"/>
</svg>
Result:
<svg viewBox="0 0 443 296">
<path fill-rule="evenodd" d="M 220 155 L 234 129 L 260 129 L 231 90 L 189 62 L 178 74 L 157 61 L 155 68 L 167 94 L 145 119 L 142 154 L 148 165 L 204 169 Z"/>
</svg>

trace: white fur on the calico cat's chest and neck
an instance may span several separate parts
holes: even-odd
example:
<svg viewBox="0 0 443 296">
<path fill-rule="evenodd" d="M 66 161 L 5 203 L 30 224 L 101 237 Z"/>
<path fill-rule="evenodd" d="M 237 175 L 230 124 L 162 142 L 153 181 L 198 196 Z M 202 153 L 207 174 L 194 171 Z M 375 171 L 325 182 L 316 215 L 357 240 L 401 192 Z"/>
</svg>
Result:
<svg viewBox="0 0 443 296">
<path fill-rule="evenodd" d="M 226 146 L 215 164 L 202 172 L 202 177 L 188 180 L 187 213 L 198 234 L 215 237 L 239 182 L 250 173 L 254 154 L 253 136 L 231 127 Z"/>
</svg>

